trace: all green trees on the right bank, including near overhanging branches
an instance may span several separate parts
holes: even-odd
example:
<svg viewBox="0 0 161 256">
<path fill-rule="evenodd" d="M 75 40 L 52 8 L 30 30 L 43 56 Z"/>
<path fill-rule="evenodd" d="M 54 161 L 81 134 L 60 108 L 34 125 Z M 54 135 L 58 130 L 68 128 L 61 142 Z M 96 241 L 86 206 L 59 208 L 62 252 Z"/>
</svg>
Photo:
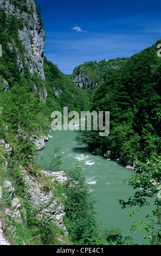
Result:
<svg viewBox="0 0 161 256">
<path fill-rule="evenodd" d="M 134 189 L 127 202 L 118 199 L 122 208 L 150 205 L 152 216 L 133 224 L 131 231 L 145 228 L 152 245 L 160 245 L 160 113 L 161 59 L 158 44 L 134 54 L 120 69 L 108 70 L 106 80 L 91 98 L 91 111 L 110 111 L 110 135 L 99 137 L 99 131 L 78 131 L 78 143 L 87 143 L 94 154 L 108 151 L 111 159 L 133 165 L 136 174 L 124 182 Z M 140 175 L 141 174 L 141 175 Z M 153 198 L 151 205 L 148 198 Z"/>
</svg>

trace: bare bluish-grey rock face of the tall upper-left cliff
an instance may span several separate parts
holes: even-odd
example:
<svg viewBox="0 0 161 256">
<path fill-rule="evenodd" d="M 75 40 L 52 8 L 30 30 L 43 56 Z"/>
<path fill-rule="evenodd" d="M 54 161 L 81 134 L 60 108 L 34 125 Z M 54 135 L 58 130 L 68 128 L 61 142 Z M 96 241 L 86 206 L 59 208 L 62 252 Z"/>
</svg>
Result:
<svg viewBox="0 0 161 256">
<path fill-rule="evenodd" d="M 36 72 L 44 80 L 43 56 L 46 35 L 37 15 L 35 1 L 0 0 L 0 8 L 4 9 L 7 15 L 15 15 L 17 19 L 23 21 L 23 26 L 18 29 L 18 35 L 25 48 L 25 64 L 27 64 L 28 70 L 32 74 Z M 13 50 L 17 52 L 17 63 L 20 71 L 23 72 L 24 61 L 18 53 L 16 45 Z"/>
</svg>

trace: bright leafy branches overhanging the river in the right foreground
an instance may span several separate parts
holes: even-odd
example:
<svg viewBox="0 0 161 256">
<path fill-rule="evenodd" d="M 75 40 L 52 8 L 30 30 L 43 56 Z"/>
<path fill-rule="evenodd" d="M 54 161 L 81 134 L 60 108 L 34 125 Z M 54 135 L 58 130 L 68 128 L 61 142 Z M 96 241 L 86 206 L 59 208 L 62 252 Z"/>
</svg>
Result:
<svg viewBox="0 0 161 256">
<path fill-rule="evenodd" d="M 160 176 L 161 176 L 161 156 L 152 155 L 146 163 L 137 162 L 137 172 L 131 176 L 131 179 L 125 179 L 124 182 L 134 189 L 133 197 L 128 198 L 127 202 L 118 199 L 121 208 L 136 206 L 131 216 L 139 214 L 139 209 L 144 206 L 152 208 L 152 216 L 147 215 L 147 220 L 134 222 L 131 231 L 143 228 L 147 231 L 145 238 L 152 245 L 160 245 L 161 235 L 161 197 L 160 197 Z M 150 200 L 149 198 L 152 198 Z"/>
</svg>

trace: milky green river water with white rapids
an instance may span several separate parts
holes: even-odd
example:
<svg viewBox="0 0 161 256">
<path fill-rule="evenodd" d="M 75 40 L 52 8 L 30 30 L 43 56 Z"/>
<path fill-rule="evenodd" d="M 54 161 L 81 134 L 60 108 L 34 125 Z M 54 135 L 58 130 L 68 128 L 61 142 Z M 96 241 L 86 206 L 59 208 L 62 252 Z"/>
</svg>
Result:
<svg viewBox="0 0 161 256">
<path fill-rule="evenodd" d="M 43 156 L 47 159 L 47 154 L 52 152 L 55 147 L 61 147 L 63 154 L 63 170 L 70 170 L 76 163 L 82 168 L 90 187 L 92 196 L 98 199 L 95 209 L 98 212 L 98 220 L 102 227 L 118 227 L 123 231 L 123 236 L 132 236 L 133 240 L 139 245 L 147 243 L 144 240 L 144 230 L 131 233 L 130 227 L 134 221 L 145 218 L 150 214 L 149 208 L 141 210 L 141 215 L 129 217 L 131 208 L 121 209 L 117 203 L 117 198 L 128 199 L 133 194 L 133 190 L 128 185 L 123 185 L 124 178 L 130 178 L 133 171 L 125 168 L 117 161 L 107 161 L 104 157 L 95 156 L 87 145 L 79 145 L 74 141 L 76 133 L 74 131 L 50 131 L 53 139 L 46 142 L 43 150 L 38 151 L 37 161 Z"/>
</svg>

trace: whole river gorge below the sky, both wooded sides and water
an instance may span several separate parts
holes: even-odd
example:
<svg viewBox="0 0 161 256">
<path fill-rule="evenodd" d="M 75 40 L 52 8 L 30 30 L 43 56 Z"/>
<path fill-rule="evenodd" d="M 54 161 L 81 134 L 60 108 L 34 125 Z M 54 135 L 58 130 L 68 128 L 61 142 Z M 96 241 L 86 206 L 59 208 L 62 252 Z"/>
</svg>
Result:
<svg viewBox="0 0 161 256">
<path fill-rule="evenodd" d="M 44 56 L 35 2 L 0 0 L 0 244 L 160 245 L 161 39 L 67 76 Z M 51 131 L 63 108 L 110 112 L 110 133 Z M 145 227 L 133 240 L 131 225 Z"/>
</svg>

